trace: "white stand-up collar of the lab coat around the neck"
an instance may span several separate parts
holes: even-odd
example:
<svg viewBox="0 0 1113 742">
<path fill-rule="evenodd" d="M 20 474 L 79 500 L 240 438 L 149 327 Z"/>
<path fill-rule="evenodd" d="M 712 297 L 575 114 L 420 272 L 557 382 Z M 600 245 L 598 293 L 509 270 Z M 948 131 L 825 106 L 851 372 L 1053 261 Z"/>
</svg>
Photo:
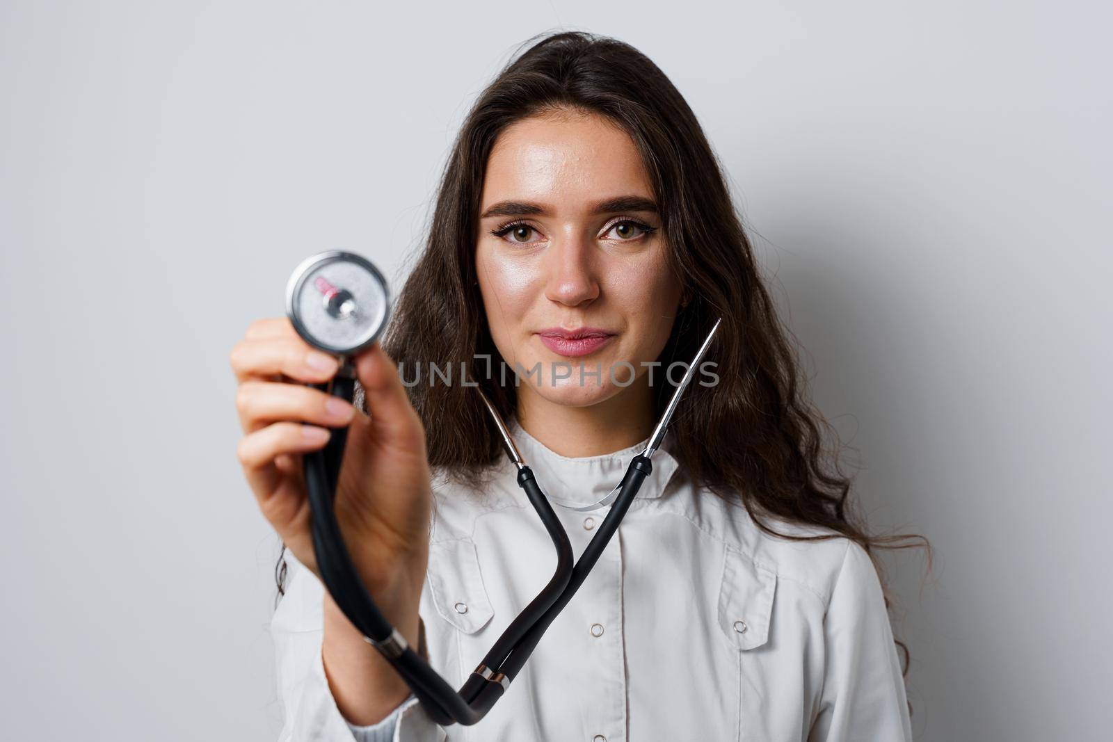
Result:
<svg viewBox="0 0 1113 742">
<path fill-rule="evenodd" d="M 646 448 L 644 441 L 629 448 L 598 456 L 561 456 L 526 433 L 516 419 L 508 424 L 511 436 L 525 463 L 533 469 L 541 489 L 552 497 L 580 504 L 598 502 L 605 497 L 626 474 L 630 461 Z M 664 435 L 661 447 L 653 454 L 653 471 L 642 482 L 638 499 L 660 497 L 679 468 L 679 462 L 670 453 L 673 434 Z"/>
</svg>

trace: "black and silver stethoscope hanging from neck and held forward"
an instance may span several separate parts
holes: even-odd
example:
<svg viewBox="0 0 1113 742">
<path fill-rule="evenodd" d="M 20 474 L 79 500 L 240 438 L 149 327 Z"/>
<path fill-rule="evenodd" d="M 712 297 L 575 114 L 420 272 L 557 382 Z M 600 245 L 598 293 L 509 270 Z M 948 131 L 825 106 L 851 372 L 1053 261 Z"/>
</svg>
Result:
<svg viewBox="0 0 1113 742">
<path fill-rule="evenodd" d="M 378 339 L 390 311 L 386 280 L 370 260 L 358 255 L 338 250 L 321 253 L 297 266 L 286 287 L 286 313 L 306 343 L 337 356 L 341 362 L 339 370 L 332 380 L 312 386 L 351 402 L 355 390 L 355 367 L 351 358 Z M 337 606 L 405 680 L 437 724 L 470 725 L 483 719 L 522 670 L 549 625 L 583 584 L 618 531 L 641 483 L 652 472 L 653 453 L 664 439 L 669 421 L 711 345 L 720 321 L 715 323 L 700 345 L 646 448 L 630 462 L 622 481 L 597 503 L 562 503 L 580 511 L 611 505 L 602 525 L 574 564 L 572 545 L 550 505 L 550 498 L 538 485 L 499 412 L 482 389 L 474 387 L 499 429 L 503 447 L 518 469 L 518 484 L 541 517 L 556 548 L 558 558 L 552 578 L 511 622 L 459 691 L 453 690 L 383 617 L 352 563 L 333 507 L 347 428 L 333 429 L 322 451 L 304 456 L 305 485 L 313 513 L 313 550 L 322 582 Z"/>
</svg>

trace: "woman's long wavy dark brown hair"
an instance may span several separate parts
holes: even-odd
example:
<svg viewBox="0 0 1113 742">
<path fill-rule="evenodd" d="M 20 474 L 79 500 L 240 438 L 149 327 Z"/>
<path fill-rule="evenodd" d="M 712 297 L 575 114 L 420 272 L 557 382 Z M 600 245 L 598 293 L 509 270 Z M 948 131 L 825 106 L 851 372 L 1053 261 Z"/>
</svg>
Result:
<svg viewBox="0 0 1113 742">
<path fill-rule="evenodd" d="M 641 155 L 669 263 L 688 299 L 658 359 L 662 367 L 693 357 L 722 318 L 712 350 L 719 383 L 691 385 L 670 426 L 671 453 L 687 475 L 740 503 L 767 533 L 799 541 L 845 536 L 860 544 L 883 586 L 876 550 L 923 545 L 930 558 L 920 536 L 871 535 L 854 513 L 851 479 L 839 467 L 838 449 L 825 445 L 833 432 L 809 400 L 795 338 L 778 318 L 723 170 L 680 92 L 649 58 L 615 39 L 569 31 L 534 37 L 524 47 L 483 90 L 460 130 L 424 250 L 397 296 L 383 342 L 387 354 L 408 369 L 430 359 L 456 369 L 466 364 L 503 417 L 514 414 L 514 386 L 484 384 L 489 366 L 476 359 L 489 354 L 494 367 L 503 360 L 491 339 L 475 270 L 487 157 L 515 121 L 568 111 L 607 117 Z M 654 389 L 659 415 L 672 387 L 663 383 Z M 474 390 L 420 383 L 408 394 L 425 425 L 432 466 L 474 484 L 503 455 Z M 817 535 L 781 534 L 774 526 L 778 521 L 816 526 Z M 907 673 L 907 649 L 897 643 Z"/>
</svg>

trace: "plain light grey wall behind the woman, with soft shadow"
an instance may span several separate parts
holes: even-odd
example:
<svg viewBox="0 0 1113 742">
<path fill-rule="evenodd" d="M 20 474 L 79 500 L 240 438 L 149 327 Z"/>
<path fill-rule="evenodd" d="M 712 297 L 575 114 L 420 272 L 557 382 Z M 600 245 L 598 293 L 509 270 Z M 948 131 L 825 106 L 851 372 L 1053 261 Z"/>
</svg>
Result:
<svg viewBox="0 0 1113 742">
<path fill-rule="evenodd" d="M 0 736 L 276 736 L 227 353 L 311 253 L 396 280 L 555 28 L 688 98 L 866 512 L 935 545 L 889 560 L 918 739 L 1107 735 L 1110 12 L 464 6 L 0 4 Z"/>
</svg>

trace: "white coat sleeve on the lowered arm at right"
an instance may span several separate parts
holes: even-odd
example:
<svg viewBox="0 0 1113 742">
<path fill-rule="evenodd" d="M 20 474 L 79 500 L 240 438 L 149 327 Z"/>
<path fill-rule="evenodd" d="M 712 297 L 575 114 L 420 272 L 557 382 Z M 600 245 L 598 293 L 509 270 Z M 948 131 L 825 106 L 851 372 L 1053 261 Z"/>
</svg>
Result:
<svg viewBox="0 0 1113 742">
<path fill-rule="evenodd" d="M 825 670 L 809 742 L 910 742 L 900 660 L 877 570 L 848 542 L 824 619 Z"/>
</svg>

